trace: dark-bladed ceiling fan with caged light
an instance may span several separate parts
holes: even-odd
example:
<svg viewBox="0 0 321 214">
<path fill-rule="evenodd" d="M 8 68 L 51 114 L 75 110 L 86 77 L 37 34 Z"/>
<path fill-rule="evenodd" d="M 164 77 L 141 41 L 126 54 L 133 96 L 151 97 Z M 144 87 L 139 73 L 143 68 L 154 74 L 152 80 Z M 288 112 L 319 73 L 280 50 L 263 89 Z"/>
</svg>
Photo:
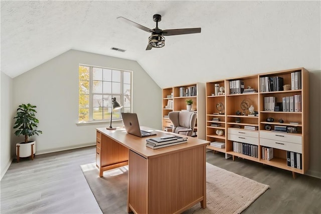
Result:
<svg viewBox="0 0 321 214">
<path fill-rule="evenodd" d="M 165 37 L 164 36 L 173 36 L 173 35 L 181 35 L 181 34 L 195 34 L 201 33 L 201 28 L 182 28 L 182 29 L 169 29 L 162 30 L 158 28 L 158 22 L 161 22 L 162 16 L 159 14 L 155 14 L 152 16 L 152 20 L 156 22 L 156 27 L 154 29 L 146 28 L 142 25 L 139 25 L 133 21 L 130 21 L 124 17 L 117 17 L 117 19 L 121 19 L 122 21 L 132 25 L 136 28 L 139 28 L 143 31 L 151 33 L 151 36 L 148 38 L 148 45 L 146 50 L 150 50 L 151 48 L 162 48 L 165 46 Z"/>
</svg>

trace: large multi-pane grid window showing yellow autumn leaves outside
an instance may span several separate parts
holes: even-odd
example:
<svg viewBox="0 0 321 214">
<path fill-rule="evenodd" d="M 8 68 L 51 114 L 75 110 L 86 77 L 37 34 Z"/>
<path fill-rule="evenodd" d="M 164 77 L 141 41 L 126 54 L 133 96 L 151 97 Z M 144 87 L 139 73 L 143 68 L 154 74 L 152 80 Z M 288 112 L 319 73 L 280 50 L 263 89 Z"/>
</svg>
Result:
<svg viewBox="0 0 321 214">
<path fill-rule="evenodd" d="M 79 122 L 109 121 L 113 97 L 123 108 L 113 111 L 112 120 L 131 112 L 131 82 L 131 71 L 79 65 Z"/>
</svg>

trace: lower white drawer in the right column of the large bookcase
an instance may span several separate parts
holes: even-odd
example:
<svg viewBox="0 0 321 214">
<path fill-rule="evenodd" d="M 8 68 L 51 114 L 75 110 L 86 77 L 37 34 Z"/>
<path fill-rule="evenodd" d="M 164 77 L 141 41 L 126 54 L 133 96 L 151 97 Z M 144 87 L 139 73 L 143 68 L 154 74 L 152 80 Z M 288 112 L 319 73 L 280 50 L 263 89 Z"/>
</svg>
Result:
<svg viewBox="0 0 321 214">
<path fill-rule="evenodd" d="M 287 150 L 291 152 L 302 153 L 302 145 L 297 143 L 289 143 L 284 141 L 276 141 L 260 138 L 260 146 L 272 147 L 276 149 Z"/>
</svg>

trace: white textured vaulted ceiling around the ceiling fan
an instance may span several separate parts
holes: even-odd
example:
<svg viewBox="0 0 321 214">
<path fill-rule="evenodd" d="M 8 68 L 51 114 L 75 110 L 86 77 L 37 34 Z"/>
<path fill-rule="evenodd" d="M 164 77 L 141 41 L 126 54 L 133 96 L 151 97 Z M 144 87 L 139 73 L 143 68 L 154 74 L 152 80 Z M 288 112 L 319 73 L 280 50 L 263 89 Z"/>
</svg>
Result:
<svg viewBox="0 0 321 214">
<path fill-rule="evenodd" d="M 149 34 L 116 19 L 153 29 L 154 14 L 162 15 L 161 29 L 202 33 L 168 36 L 164 48 L 145 51 Z M 258 73 L 297 58 L 313 67 L 319 40 L 319 1 L 1 1 L 1 70 L 11 77 L 75 49 L 136 60 L 165 87 L 185 83 L 186 74 L 204 81 L 208 72 Z"/>
</svg>

